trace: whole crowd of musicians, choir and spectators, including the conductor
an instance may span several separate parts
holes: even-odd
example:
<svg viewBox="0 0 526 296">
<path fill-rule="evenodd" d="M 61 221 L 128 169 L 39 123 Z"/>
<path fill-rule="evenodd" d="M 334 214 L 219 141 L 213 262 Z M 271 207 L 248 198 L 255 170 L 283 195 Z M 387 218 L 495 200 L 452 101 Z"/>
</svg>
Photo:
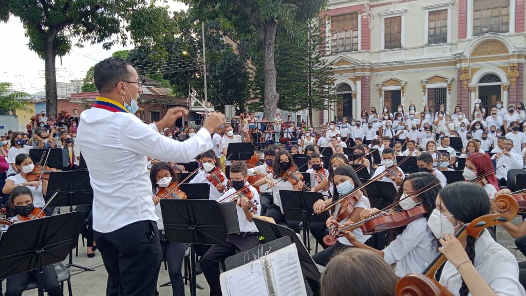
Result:
<svg viewBox="0 0 526 296">
<path fill-rule="evenodd" d="M 169 241 L 160 204 L 165 198 L 185 199 L 186 193 L 178 189 L 180 173 L 197 162 L 187 182 L 209 185 L 210 200 L 238 205 L 239 233 L 228 234 L 224 245 L 198 250 L 210 295 L 221 295 L 221 262 L 260 244 L 254 219 L 263 219 L 297 233 L 309 231 L 321 246 L 312 260 L 325 270 L 319 281 L 308 281 L 313 295 L 395 295 L 397 285 L 404 288 L 407 275 L 421 273 L 443 255 L 447 260 L 432 274 L 437 279 L 433 285 L 453 295 L 526 296 L 526 266 L 495 240 L 494 229 L 464 233 L 470 222 L 493 215 L 492 221 L 500 221 L 526 254 L 526 222 L 515 225 L 495 218 L 503 215 L 500 195 L 514 194 L 507 189 L 508 171 L 524 165 L 522 103 L 502 110 L 497 102 L 488 114 L 480 101 L 467 114 L 459 106 L 451 114 L 443 105 L 436 112 L 427 105 L 422 112 L 414 104 L 407 112 L 403 106 L 394 113 L 384 107 L 381 114 L 371 107 L 361 119 L 344 117 L 320 130 L 306 124 L 297 127 L 279 113 L 273 122 L 241 114 L 225 123 L 222 114 L 212 112 L 200 129 L 178 129 L 173 123 L 187 114 L 184 108 L 170 109 L 149 125 L 134 115 L 138 75 L 124 60 L 100 62 L 94 80 L 101 96 L 69 123 L 57 125 L 41 114 L 43 124 L 31 134 L 3 136 L 0 180 L 7 218 L 24 221 L 44 206 L 49 182 L 28 181 L 41 164 L 31 159 L 29 150 L 63 149 L 69 156 L 63 170 L 83 169 L 82 154 L 94 191 L 93 204 L 78 209 L 87 218 L 82 234 L 88 240 L 88 257 L 97 250 L 102 255 L 107 295 L 156 295 L 163 258 L 173 295 L 185 294 L 181 268 L 188 246 Z M 229 145 L 241 142 L 255 144 L 260 152 L 255 163 L 229 159 Z M 418 172 L 404 172 L 400 157 L 414 157 Z M 462 172 L 464 182 L 444 176 L 444 171 L 455 170 Z M 362 181 L 363 172 L 369 180 Z M 367 187 L 373 182 L 397 193 L 373 196 Z M 312 212 L 330 210 L 331 215 L 325 223 L 310 225 L 287 219 L 284 190 L 317 192 Z M 387 230 L 360 226 L 380 216 L 417 210 L 416 218 Z M 43 273 L 48 294 L 62 295 L 54 269 Z M 35 275 L 8 278 L 6 296 L 21 295 Z"/>
</svg>

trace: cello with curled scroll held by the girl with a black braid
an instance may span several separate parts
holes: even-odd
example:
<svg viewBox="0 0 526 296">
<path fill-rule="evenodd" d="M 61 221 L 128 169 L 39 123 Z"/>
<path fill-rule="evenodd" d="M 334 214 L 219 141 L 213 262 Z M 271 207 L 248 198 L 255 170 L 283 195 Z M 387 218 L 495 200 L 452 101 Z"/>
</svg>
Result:
<svg viewBox="0 0 526 296">
<path fill-rule="evenodd" d="M 511 221 L 519 212 L 519 205 L 517 201 L 508 194 L 500 194 L 495 197 L 493 201 L 493 208 L 497 210 L 497 214 L 488 214 L 480 216 L 479 218 L 466 223 L 455 234 L 459 240 L 465 239 L 468 235 L 473 238 L 478 238 L 480 233 L 485 228 L 501 225 Z M 401 278 L 396 285 L 397 296 L 451 296 L 453 295 L 446 288 L 444 288 L 434 275 L 437 270 L 446 262 L 446 256 L 439 253 L 428 265 L 426 269 L 420 273 L 410 273 Z"/>
</svg>

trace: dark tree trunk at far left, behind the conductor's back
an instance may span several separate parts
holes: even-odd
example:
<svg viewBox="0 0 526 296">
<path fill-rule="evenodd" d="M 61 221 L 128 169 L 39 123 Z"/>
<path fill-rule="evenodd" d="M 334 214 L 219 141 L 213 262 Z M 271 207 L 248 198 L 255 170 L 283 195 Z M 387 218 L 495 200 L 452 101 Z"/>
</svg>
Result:
<svg viewBox="0 0 526 296">
<path fill-rule="evenodd" d="M 55 70 L 55 37 L 56 34 L 47 36 L 46 49 L 44 53 L 44 68 L 46 73 L 46 114 L 57 116 L 57 76 Z"/>
</svg>

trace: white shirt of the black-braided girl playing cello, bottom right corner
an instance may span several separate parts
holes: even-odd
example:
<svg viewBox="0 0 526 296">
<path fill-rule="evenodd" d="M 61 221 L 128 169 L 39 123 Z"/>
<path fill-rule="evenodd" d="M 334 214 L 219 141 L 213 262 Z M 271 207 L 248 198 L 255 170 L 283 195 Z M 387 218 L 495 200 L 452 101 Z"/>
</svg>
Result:
<svg viewBox="0 0 526 296">
<path fill-rule="evenodd" d="M 519 282 L 517 259 L 510 251 L 495 242 L 488 231 L 483 231 L 475 242 L 475 254 L 473 264 L 475 269 L 496 295 L 526 295 Z M 459 295 L 462 277 L 449 260 L 444 264 L 439 282 L 453 295 Z M 472 294 L 469 293 L 469 295 Z"/>
</svg>

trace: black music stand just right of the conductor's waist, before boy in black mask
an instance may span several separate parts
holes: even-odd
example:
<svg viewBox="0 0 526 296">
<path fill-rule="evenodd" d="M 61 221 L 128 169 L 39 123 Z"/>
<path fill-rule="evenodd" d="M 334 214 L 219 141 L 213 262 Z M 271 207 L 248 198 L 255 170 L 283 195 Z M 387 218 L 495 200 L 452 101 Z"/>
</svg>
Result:
<svg viewBox="0 0 526 296">
<path fill-rule="evenodd" d="M 228 233 L 239 233 L 237 205 L 193 199 L 161 200 L 160 205 L 168 241 L 190 244 L 190 295 L 196 296 L 195 245 L 222 245 Z"/>
</svg>

